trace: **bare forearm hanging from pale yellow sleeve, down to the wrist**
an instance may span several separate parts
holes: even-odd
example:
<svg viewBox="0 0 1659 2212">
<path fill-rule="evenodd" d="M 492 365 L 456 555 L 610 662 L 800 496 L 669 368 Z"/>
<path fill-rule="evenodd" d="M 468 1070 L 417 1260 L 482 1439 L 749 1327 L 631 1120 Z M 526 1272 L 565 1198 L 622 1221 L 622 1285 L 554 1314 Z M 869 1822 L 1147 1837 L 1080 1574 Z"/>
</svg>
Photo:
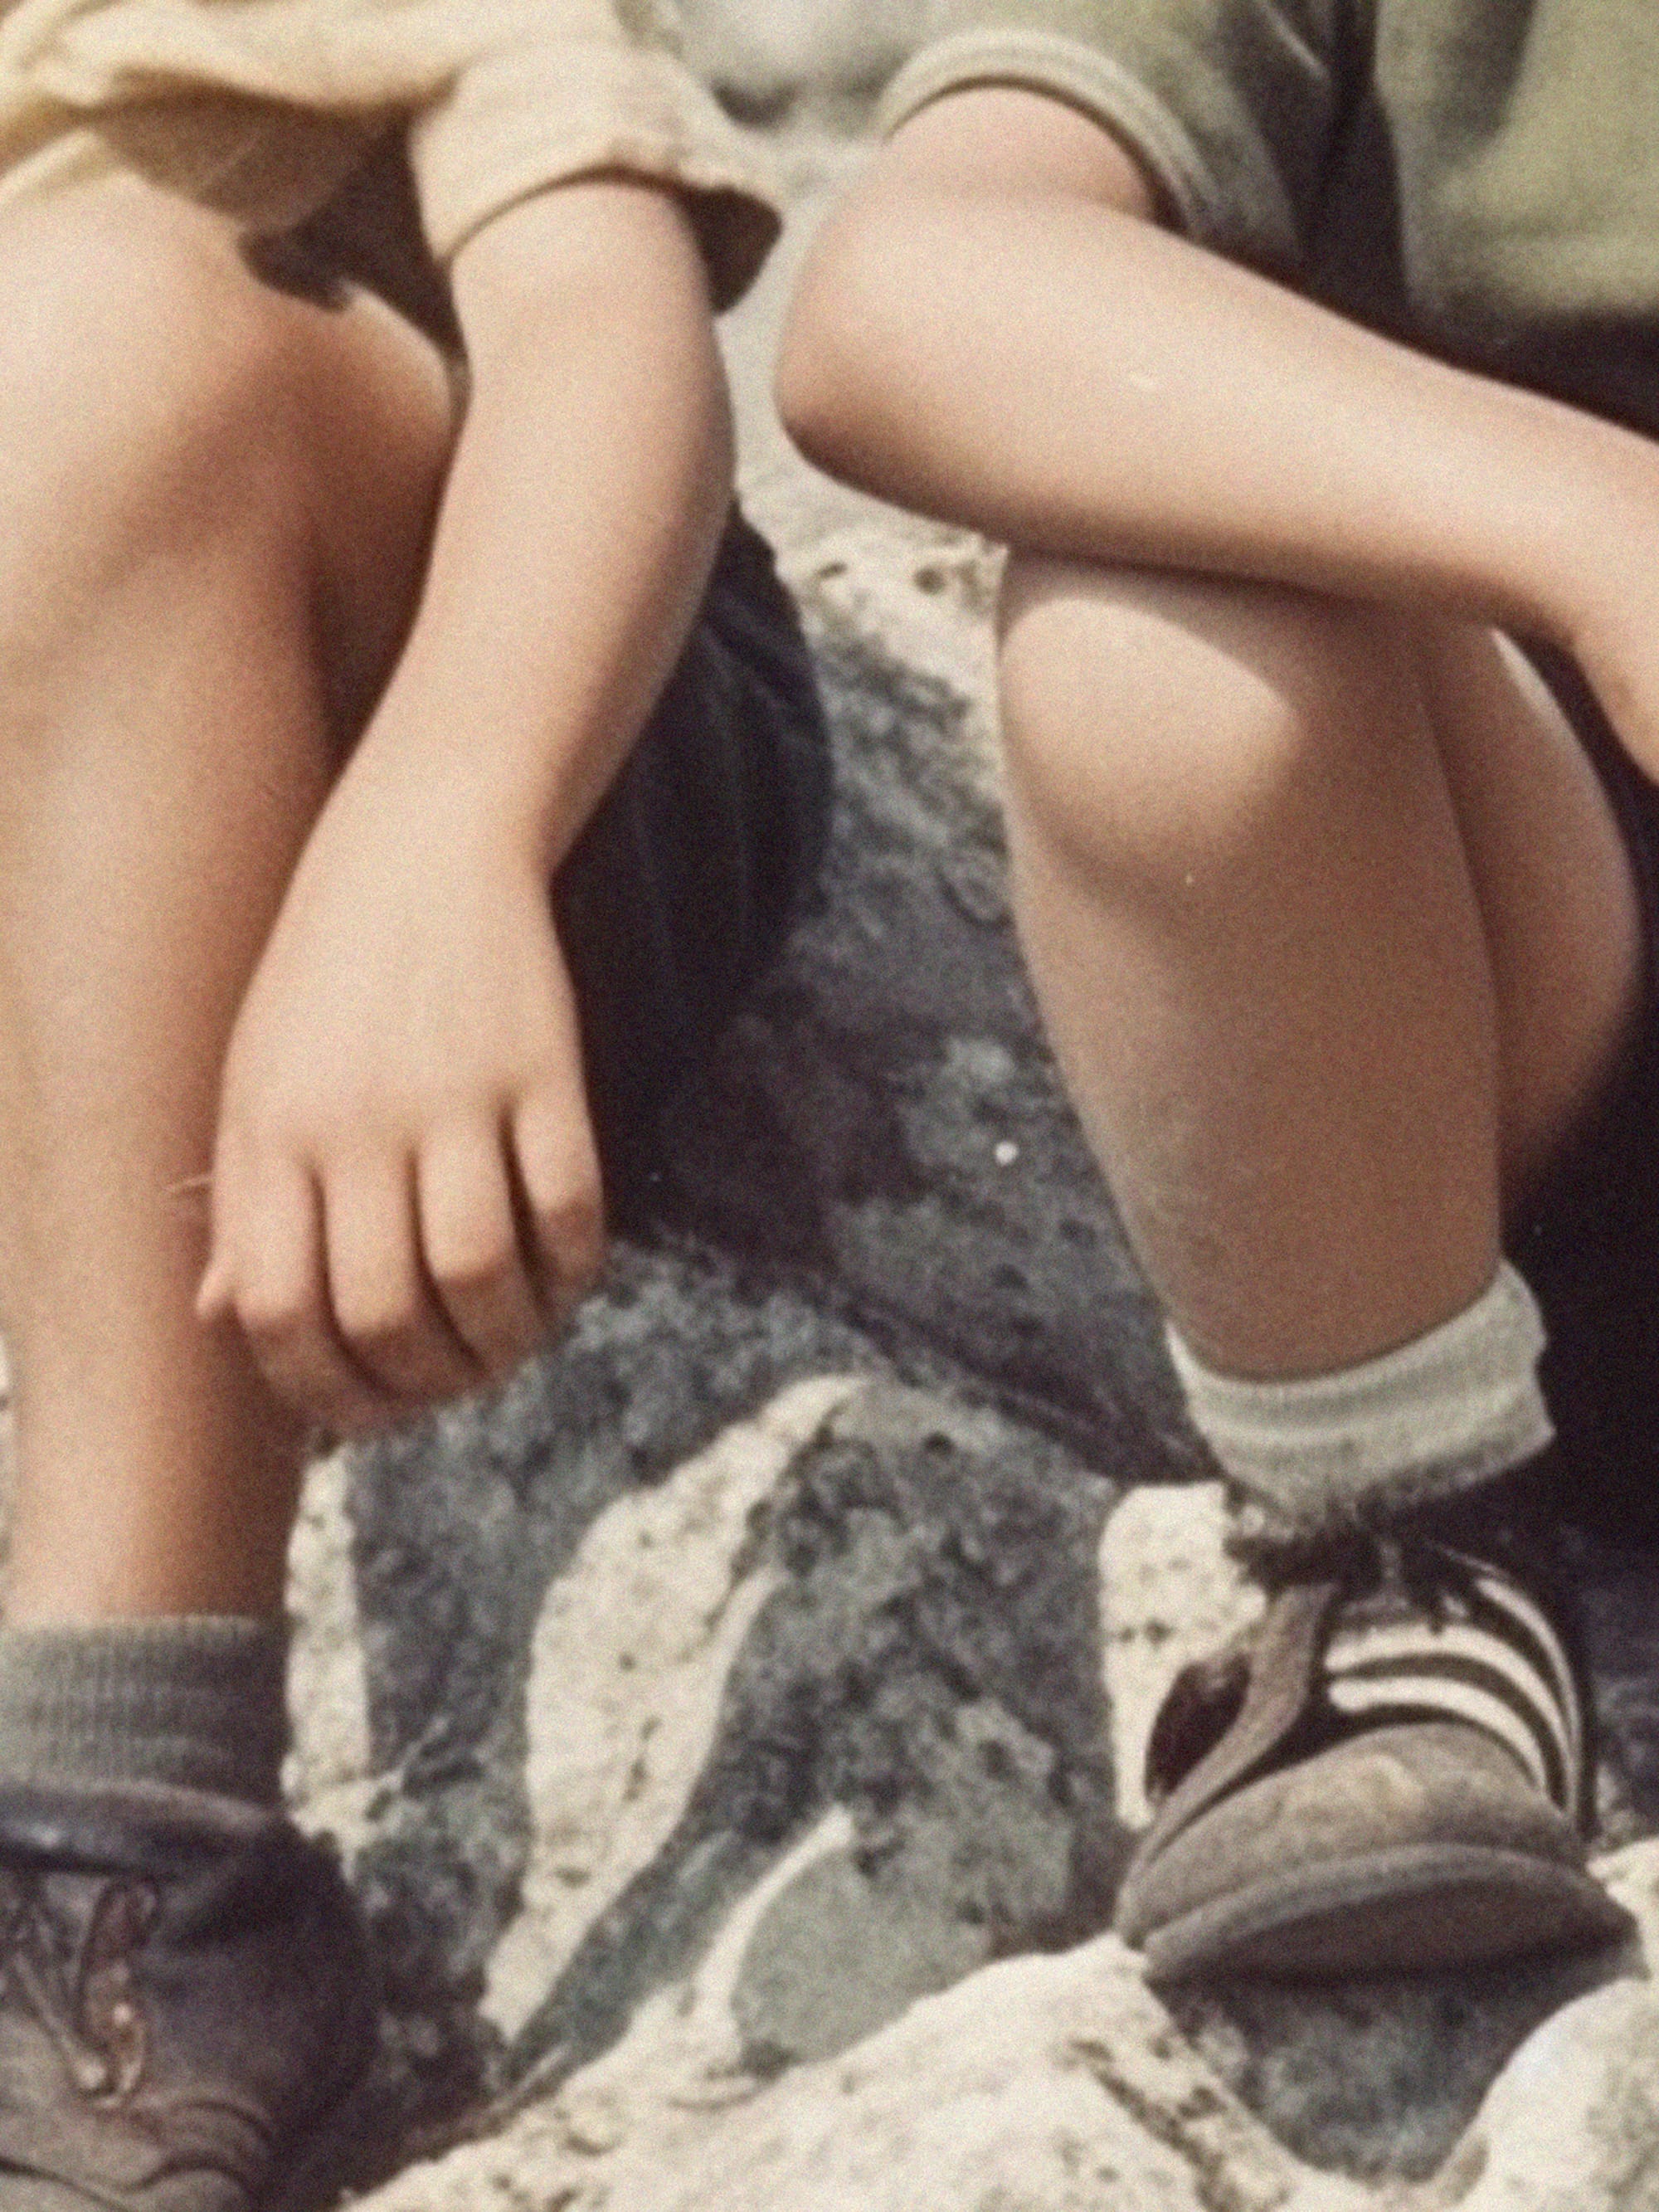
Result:
<svg viewBox="0 0 1659 2212">
<path fill-rule="evenodd" d="M 420 776 L 555 867 L 695 617 L 732 487 L 697 246 L 624 184 L 498 217 L 456 270 L 471 403 L 427 588 L 352 779 Z"/>
</svg>

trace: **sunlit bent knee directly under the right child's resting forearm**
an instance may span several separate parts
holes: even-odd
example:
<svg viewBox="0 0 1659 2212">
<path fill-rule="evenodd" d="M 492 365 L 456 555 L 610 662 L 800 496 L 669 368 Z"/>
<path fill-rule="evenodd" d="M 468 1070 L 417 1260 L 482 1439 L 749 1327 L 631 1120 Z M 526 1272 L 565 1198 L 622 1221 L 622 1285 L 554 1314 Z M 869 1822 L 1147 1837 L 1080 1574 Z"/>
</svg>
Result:
<svg viewBox="0 0 1659 2212">
<path fill-rule="evenodd" d="M 1157 883 L 1250 865 L 1340 750 L 1387 739 L 1407 626 L 1279 584 L 1013 555 L 1002 739 L 1037 834 Z"/>
</svg>

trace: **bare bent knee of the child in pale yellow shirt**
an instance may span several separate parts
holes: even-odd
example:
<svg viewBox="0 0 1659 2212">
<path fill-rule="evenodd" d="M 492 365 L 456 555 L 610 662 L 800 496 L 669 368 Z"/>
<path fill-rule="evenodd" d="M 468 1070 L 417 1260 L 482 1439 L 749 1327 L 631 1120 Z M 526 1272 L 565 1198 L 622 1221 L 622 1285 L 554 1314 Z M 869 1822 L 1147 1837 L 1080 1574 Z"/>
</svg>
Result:
<svg viewBox="0 0 1659 2212">
<path fill-rule="evenodd" d="M 451 438 L 434 347 L 378 301 L 330 312 L 259 283 L 217 217 L 135 179 L 0 226 L 0 622 L 144 555 L 254 542 L 341 606 L 345 692 L 392 650 Z"/>
</svg>

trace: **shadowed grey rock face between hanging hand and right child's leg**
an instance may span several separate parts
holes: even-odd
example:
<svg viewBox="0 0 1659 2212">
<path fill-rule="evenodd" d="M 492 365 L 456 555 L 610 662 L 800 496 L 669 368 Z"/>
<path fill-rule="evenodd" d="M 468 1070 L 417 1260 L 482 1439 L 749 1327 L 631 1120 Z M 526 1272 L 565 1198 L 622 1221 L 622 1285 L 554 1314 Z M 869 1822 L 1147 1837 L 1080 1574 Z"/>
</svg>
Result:
<svg viewBox="0 0 1659 2212">
<path fill-rule="evenodd" d="M 821 909 L 675 1110 L 659 1223 L 805 1279 L 1126 1480 L 1203 1471 L 1042 1037 L 964 701 L 821 626 Z"/>
</svg>

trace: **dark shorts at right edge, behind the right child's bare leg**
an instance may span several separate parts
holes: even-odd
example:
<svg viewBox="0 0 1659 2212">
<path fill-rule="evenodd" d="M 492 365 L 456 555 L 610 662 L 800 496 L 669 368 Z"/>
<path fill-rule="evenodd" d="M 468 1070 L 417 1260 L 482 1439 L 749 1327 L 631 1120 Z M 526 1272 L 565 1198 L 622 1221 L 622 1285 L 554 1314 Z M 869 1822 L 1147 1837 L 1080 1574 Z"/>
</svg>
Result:
<svg viewBox="0 0 1659 2212">
<path fill-rule="evenodd" d="M 1564 1447 L 1564 1509 L 1615 1540 L 1659 1544 L 1659 787 L 1577 670 L 1535 659 L 1624 827 L 1646 969 L 1624 1060 L 1506 1248 L 1548 1327 L 1542 1380 Z"/>
</svg>

